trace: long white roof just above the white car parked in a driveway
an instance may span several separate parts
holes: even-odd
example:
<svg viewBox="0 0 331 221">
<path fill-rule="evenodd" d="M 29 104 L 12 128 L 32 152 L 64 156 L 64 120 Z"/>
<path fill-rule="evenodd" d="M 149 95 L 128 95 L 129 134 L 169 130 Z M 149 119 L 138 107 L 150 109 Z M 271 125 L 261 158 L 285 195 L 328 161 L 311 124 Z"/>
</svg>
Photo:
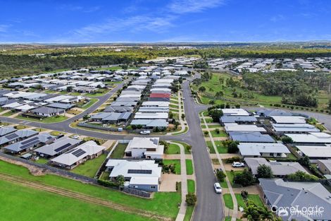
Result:
<svg viewBox="0 0 331 221">
<path fill-rule="evenodd" d="M 290 153 L 282 143 L 239 143 L 241 155 L 260 156 L 261 153 Z"/>
</svg>

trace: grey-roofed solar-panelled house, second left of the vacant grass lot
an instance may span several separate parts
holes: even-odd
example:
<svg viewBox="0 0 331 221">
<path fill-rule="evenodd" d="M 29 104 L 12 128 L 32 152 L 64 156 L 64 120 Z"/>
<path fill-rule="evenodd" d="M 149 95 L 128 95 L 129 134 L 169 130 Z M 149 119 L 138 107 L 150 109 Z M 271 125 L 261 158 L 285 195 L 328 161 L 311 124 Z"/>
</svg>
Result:
<svg viewBox="0 0 331 221">
<path fill-rule="evenodd" d="M 37 148 L 35 153 L 42 157 L 55 157 L 75 148 L 77 145 L 80 145 L 80 143 L 82 143 L 81 140 L 63 136 L 56 139 L 54 143 L 43 145 L 41 148 Z"/>
</svg>

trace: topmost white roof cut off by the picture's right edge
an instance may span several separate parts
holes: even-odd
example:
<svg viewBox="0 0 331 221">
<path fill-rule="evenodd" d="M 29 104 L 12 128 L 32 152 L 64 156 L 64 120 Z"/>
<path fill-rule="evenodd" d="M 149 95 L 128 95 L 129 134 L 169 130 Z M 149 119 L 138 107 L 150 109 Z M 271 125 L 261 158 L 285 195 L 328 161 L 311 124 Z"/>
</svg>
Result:
<svg viewBox="0 0 331 221">
<path fill-rule="evenodd" d="M 292 138 L 294 143 L 331 143 L 331 135 L 327 133 L 285 133 L 285 135 Z"/>
</svg>

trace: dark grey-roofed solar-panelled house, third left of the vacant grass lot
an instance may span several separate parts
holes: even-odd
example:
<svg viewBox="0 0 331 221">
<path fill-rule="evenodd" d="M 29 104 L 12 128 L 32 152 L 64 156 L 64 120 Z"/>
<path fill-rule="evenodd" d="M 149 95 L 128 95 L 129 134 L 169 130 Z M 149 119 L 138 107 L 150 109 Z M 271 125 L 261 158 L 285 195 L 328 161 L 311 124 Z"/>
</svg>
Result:
<svg viewBox="0 0 331 221">
<path fill-rule="evenodd" d="M 8 153 L 20 154 L 31 148 L 37 148 L 40 145 L 49 144 L 54 141 L 55 136 L 49 133 L 40 133 L 37 136 L 32 136 L 23 141 L 13 143 L 4 147 L 4 151 Z"/>
</svg>

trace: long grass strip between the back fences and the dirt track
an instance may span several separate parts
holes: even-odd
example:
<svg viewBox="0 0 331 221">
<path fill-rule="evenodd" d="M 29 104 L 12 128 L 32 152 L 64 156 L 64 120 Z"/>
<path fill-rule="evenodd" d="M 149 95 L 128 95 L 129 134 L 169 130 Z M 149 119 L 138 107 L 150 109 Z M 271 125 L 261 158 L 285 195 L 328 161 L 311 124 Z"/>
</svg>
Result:
<svg viewBox="0 0 331 221">
<path fill-rule="evenodd" d="M 177 192 L 171 192 L 171 193 L 158 192 L 158 193 L 154 193 L 154 198 L 144 199 L 135 196 L 129 196 L 125 193 L 121 193 L 120 191 L 103 188 L 101 186 L 95 186 L 92 184 L 83 184 L 80 181 L 75 181 L 73 179 L 68 179 L 64 177 L 58 177 L 54 174 L 46 174 L 44 176 L 32 176 L 27 168 L 20 167 L 18 165 L 12 165 L 4 161 L 0 161 L 0 172 L 5 174 L 11 174 L 17 177 L 22 177 L 23 179 L 27 179 L 30 181 L 38 181 L 42 184 L 58 186 L 60 188 L 69 189 L 70 191 L 76 191 L 78 193 L 85 193 L 88 196 L 94 196 L 96 198 L 101 198 L 106 201 L 111 201 L 122 205 L 128 205 L 133 208 L 148 210 L 154 213 L 158 213 L 159 215 L 164 215 L 165 217 L 170 217 L 173 220 L 175 220 L 175 217 L 177 216 L 179 210 L 177 205 L 181 201 L 180 193 Z M 6 193 L 6 191 L 1 191 L 0 195 L 4 193 Z M 15 193 L 20 193 L 20 191 L 15 191 Z M 4 197 L 1 197 L 1 199 L 3 198 Z M 58 201 L 56 203 L 58 203 Z M 15 203 L 14 204 L 5 203 L 5 204 L 15 205 Z M 29 204 L 30 203 L 25 203 L 25 206 Z M 4 203 L 2 205 L 4 205 Z M 20 207 L 15 206 L 15 208 L 20 208 Z M 100 208 L 100 205 L 98 205 L 98 208 Z M 9 220 L 13 220 L 13 219 L 9 219 Z"/>
</svg>

